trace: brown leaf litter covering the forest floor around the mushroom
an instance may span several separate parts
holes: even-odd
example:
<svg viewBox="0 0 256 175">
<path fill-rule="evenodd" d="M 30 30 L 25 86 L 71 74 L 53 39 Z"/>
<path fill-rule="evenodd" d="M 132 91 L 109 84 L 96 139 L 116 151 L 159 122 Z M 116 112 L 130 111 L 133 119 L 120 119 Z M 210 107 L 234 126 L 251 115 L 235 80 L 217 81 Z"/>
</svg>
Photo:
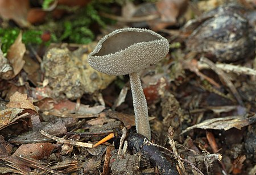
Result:
<svg viewBox="0 0 256 175">
<path fill-rule="evenodd" d="M 95 35 L 126 26 L 147 27 L 170 41 L 166 59 L 141 71 L 152 140 L 134 134 L 127 77 L 106 76 L 88 65 L 87 55 L 95 43 L 24 45 L 19 32 L 9 51 L 0 55 L 0 172 L 164 174 L 168 169 L 172 174 L 255 174 L 255 55 L 249 54 L 255 53 L 255 41 L 233 53 L 236 44 L 253 31 L 253 22 L 243 9 L 253 12 L 255 8 L 250 1 L 238 7 L 222 3 L 106 3 L 112 12 L 99 14 L 117 23 L 100 31 L 91 26 Z M 30 28 L 31 23 L 46 22 L 46 14 L 61 11 L 54 2 L 46 10 L 37 7 L 42 16 L 27 18 L 33 6 L 20 8 L 26 9 L 20 16 L 21 11 L 5 14 L 3 6 L 0 15 Z M 223 7 L 226 11 L 220 12 Z M 216 11 L 220 13 L 214 15 Z M 199 17 L 190 20 L 191 12 Z M 241 18 L 236 21 L 230 16 L 233 12 Z M 225 28 L 219 16 L 239 25 L 246 23 L 249 30 L 240 35 L 232 27 Z M 218 26 L 213 32 L 225 34 L 215 45 L 207 40 L 216 39 L 215 35 L 202 38 L 211 25 Z M 224 50 L 226 41 L 228 49 Z M 112 139 L 92 148 L 109 134 Z M 164 161 L 158 161 L 159 157 Z"/>
</svg>

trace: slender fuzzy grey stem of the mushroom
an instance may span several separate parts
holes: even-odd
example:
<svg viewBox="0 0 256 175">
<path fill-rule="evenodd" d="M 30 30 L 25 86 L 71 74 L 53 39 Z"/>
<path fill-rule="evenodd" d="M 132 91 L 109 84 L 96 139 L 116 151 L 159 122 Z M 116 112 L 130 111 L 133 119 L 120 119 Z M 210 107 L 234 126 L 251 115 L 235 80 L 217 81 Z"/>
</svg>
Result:
<svg viewBox="0 0 256 175">
<path fill-rule="evenodd" d="M 139 134 L 151 140 L 150 123 L 148 121 L 147 101 L 143 93 L 141 80 L 137 72 L 130 73 L 131 93 L 135 113 L 135 126 Z"/>
</svg>

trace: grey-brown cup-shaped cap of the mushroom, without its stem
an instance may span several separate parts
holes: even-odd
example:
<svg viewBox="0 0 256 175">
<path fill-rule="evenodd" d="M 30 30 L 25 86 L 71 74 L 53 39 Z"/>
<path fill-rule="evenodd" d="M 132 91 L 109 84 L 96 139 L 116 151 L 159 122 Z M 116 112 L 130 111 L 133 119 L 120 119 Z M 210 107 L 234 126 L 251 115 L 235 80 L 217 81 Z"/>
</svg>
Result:
<svg viewBox="0 0 256 175">
<path fill-rule="evenodd" d="M 168 40 L 156 32 L 122 28 L 104 36 L 88 55 L 88 62 L 99 72 L 119 76 L 148 68 L 168 51 Z"/>
</svg>

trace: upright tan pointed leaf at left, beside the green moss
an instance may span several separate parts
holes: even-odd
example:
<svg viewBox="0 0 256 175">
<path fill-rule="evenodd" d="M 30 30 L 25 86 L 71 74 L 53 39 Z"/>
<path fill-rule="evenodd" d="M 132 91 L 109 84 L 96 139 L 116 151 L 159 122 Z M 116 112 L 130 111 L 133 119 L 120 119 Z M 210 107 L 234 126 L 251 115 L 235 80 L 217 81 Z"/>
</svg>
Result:
<svg viewBox="0 0 256 175">
<path fill-rule="evenodd" d="M 15 77 L 20 72 L 20 70 L 23 68 L 23 65 L 25 64 L 25 61 L 23 60 L 25 52 L 26 47 L 25 44 L 22 43 L 22 32 L 20 32 L 7 53 L 7 59 L 10 61 L 11 66 L 13 67 L 13 77 Z"/>
</svg>

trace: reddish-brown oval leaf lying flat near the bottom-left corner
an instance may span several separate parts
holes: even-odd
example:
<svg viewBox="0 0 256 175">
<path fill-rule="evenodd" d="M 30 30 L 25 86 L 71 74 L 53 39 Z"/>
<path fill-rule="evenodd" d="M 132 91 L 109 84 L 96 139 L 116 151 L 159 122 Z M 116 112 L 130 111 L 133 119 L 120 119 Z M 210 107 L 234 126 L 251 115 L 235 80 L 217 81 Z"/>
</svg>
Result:
<svg viewBox="0 0 256 175">
<path fill-rule="evenodd" d="M 43 157 L 48 157 L 55 146 L 51 143 L 32 143 L 32 144 L 23 144 L 13 153 L 15 156 L 26 156 L 32 159 L 43 159 Z"/>
</svg>

